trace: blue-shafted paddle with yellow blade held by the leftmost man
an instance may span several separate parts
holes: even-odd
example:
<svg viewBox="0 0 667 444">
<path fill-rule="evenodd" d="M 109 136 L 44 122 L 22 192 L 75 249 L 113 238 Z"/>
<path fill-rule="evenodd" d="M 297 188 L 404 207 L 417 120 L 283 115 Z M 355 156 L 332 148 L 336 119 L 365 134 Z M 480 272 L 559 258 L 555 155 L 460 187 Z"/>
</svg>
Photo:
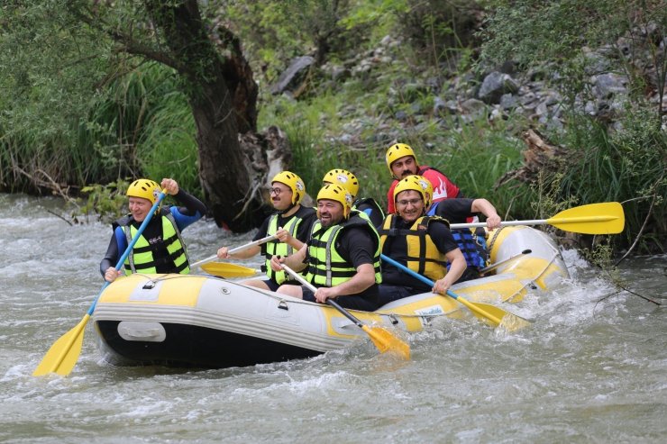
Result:
<svg viewBox="0 0 667 444">
<path fill-rule="evenodd" d="M 146 218 L 143 220 L 142 225 L 137 230 L 137 233 L 132 238 L 132 241 L 127 246 L 123 252 L 123 256 L 118 259 L 118 263 L 115 266 L 115 269 L 120 270 L 123 267 L 125 259 L 130 255 L 130 251 L 134 247 L 134 244 L 137 243 L 139 237 L 142 235 L 143 230 L 146 228 L 153 213 L 158 209 L 158 205 L 164 199 L 166 189 L 162 189 L 162 192 L 158 196 L 158 200 L 155 201 L 155 204 L 149 210 L 149 213 L 146 215 Z M 102 295 L 102 292 L 105 291 L 105 288 L 111 284 L 110 282 L 105 281 L 105 284 L 102 285 L 99 294 L 93 301 L 93 304 L 90 305 L 87 313 L 84 315 L 83 319 L 78 322 L 77 326 L 72 330 L 68 331 L 64 335 L 60 336 L 59 340 L 56 340 L 49 351 L 46 352 L 44 358 L 41 359 L 40 365 L 35 368 L 35 371 L 32 372 L 32 376 L 43 376 L 48 373 L 57 373 L 60 376 L 68 376 L 72 371 L 74 366 L 77 364 L 78 356 L 81 354 L 81 347 L 83 345 L 84 331 L 86 330 L 86 324 L 90 319 L 90 316 L 95 311 L 95 306 L 97 300 Z"/>
</svg>

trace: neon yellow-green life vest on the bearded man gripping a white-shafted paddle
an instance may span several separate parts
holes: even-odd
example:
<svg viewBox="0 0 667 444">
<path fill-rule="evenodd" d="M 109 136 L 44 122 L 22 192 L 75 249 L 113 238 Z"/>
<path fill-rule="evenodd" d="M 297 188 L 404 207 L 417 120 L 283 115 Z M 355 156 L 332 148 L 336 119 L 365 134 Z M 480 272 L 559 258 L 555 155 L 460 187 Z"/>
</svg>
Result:
<svg viewBox="0 0 667 444">
<path fill-rule="evenodd" d="M 322 227 L 320 221 L 313 224 L 311 238 L 308 240 L 308 267 L 306 279 L 316 286 L 341 285 L 352 279 L 357 270 L 352 263 L 345 260 L 338 251 L 340 246 L 338 237 L 351 227 L 362 227 L 372 233 L 376 249 L 373 253 L 373 267 L 375 268 L 375 282 L 382 282 L 379 268 L 379 236 L 372 223 L 364 219 L 360 212 L 352 211 L 347 221 L 333 225 L 329 228 Z"/>
</svg>

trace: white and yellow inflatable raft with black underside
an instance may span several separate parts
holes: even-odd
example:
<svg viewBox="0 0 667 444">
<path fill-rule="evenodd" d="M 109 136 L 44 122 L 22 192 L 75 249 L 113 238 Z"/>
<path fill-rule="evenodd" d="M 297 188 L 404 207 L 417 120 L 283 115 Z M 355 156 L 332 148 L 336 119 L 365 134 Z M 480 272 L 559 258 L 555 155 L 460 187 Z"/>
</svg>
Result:
<svg viewBox="0 0 667 444">
<path fill-rule="evenodd" d="M 544 294 L 568 276 L 559 249 L 527 226 L 491 231 L 490 276 L 453 285 L 468 301 L 507 308 L 526 294 Z M 526 254 L 529 249 L 530 253 Z M 364 323 L 413 332 L 441 316 L 469 316 L 449 296 L 417 294 L 373 313 Z M 242 367 L 309 358 L 369 340 L 333 307 L 196 275 L 131 275 L 100 295 L 92 314 L 105 360 L 115 365 Z"/>
</svg>

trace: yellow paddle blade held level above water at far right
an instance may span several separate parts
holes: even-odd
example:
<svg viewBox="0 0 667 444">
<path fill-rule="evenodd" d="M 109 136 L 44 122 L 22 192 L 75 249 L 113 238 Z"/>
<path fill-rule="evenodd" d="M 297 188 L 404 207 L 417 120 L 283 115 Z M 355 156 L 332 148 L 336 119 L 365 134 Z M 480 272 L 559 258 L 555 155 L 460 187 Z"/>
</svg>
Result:
<svg viewBox="0 0 667 444">
<path fill-rule="evenodd" d="M 626 225 L 623 206 L 617 202 L 575 206 L 546 221 L 563 231 L 583 234 L 617 234 Z"/>
</svg>

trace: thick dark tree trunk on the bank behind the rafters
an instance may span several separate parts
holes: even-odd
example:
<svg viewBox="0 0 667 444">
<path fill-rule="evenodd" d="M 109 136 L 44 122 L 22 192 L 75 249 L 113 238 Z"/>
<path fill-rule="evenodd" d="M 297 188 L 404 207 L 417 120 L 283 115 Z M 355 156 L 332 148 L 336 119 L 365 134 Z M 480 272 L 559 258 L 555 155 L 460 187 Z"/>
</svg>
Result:
<svg viewBox="0 0 667 444">
<path fill-rule="evenodd" d="M 241 44 L 222 27 L 209 36 L 196 0 L 145 0 L 145 5 L 169 46 L 169 59 L 187 79 L 185 93 L 196 122 L 206 204 L 218 226 L 251 230 L 271 211 L 261 193 L 270 169 L 269 147 L 261 135 L 252 138 L 264 142 L 259 147 L 239 138 L 240 133 L 256 132 L 258 89 Z M 222 48 L 216 50 L 216 44 Z M 274 154 L 288 159 L 287 146 L 278 145 L 283 146 Z"/>
</svg>

